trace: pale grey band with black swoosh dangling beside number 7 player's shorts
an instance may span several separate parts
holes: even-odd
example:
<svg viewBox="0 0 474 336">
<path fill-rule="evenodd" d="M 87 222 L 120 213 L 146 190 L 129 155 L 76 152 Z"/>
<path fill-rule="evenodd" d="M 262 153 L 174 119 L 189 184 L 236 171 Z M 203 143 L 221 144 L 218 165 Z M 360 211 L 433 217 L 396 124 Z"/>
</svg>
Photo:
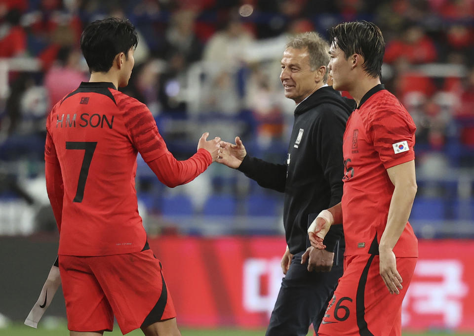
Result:
<svg viewBox="0 0 474 336">
<path fill-rule="evenodd" d="M 51 300 L 53 299 L 54 294 L 56 294 L 60 284 L 61 277 L 59 275 L 59 267 L 53 265 L 49 271 L 48 278 L 41 289 L 40 297 L 25 320 L 27 326 L 38 328 L 38 322 L 40 322 L 46 308 L 51 304 Z"/>
</svg>

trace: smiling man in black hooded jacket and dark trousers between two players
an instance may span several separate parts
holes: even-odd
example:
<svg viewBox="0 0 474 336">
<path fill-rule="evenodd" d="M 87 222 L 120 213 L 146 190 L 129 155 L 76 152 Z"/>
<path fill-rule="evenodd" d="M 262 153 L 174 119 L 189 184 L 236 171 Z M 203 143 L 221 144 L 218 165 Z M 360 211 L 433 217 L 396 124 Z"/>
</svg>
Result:
<svg viewBox="0 0 474 336">
<path fill-rule="evenodd" d="M 342 225 L 331 227 L 324 239 L 326 250 L 319 251 L 309 247 L 307 229 L 319 211 L 341 201 L 342 139 L 351 108 L 339 92 L 325 84 L 327 42 L 316 33 L 305 33 L 286 46 L 280 80 L 285 96 L 298 104 L 286 165 L 249 157 L 239 137 L 235 144 L 221 142 L 217 160 L 262 187 L 285 193 L 287 249 L 281 266 L 286 276 L 267 336 L 305 336 L 311 323 L 317 331 L 343 273 Z"/>
</svg>

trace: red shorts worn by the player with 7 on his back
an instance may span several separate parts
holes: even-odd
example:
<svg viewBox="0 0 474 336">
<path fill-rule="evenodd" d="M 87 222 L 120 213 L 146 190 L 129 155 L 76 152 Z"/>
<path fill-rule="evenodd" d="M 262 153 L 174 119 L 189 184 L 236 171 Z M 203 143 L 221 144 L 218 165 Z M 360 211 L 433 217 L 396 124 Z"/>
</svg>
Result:
<svg viewBox="0 0 474 336">
<path fill-rule="evenodd" d="M 104 256 L 59 256 L 68 329 L 122 334 L 176 317 L 161 263 L 152 250 Z"/>
</svg>

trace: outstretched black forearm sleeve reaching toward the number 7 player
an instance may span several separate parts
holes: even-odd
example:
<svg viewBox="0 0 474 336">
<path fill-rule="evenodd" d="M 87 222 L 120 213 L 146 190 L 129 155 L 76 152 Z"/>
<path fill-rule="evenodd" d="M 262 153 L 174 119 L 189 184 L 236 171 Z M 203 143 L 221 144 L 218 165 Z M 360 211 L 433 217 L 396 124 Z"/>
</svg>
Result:
<svg viewBox="0 0 474 336">
<path fill-rule="evenodd" d="M 286 165 L 272 164 L 246 155 L 237 169 L 264 188 L 285 192 Z"/>
</svg>

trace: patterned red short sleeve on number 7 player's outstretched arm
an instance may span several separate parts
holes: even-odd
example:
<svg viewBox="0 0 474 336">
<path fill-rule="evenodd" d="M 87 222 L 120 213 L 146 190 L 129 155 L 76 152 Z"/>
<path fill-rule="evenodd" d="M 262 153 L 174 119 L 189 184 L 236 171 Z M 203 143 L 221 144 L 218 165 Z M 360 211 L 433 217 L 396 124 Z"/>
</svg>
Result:
<svg viewBox="0 0 474 336">
<path fill-rule="evenodd" d="M 150 162 L 166 154 L 166 144 L 148 107 L 123 93 L 115 98 L 118 108 L 123 111 L 128 136 L 143 160 Z"/>
</svg>

